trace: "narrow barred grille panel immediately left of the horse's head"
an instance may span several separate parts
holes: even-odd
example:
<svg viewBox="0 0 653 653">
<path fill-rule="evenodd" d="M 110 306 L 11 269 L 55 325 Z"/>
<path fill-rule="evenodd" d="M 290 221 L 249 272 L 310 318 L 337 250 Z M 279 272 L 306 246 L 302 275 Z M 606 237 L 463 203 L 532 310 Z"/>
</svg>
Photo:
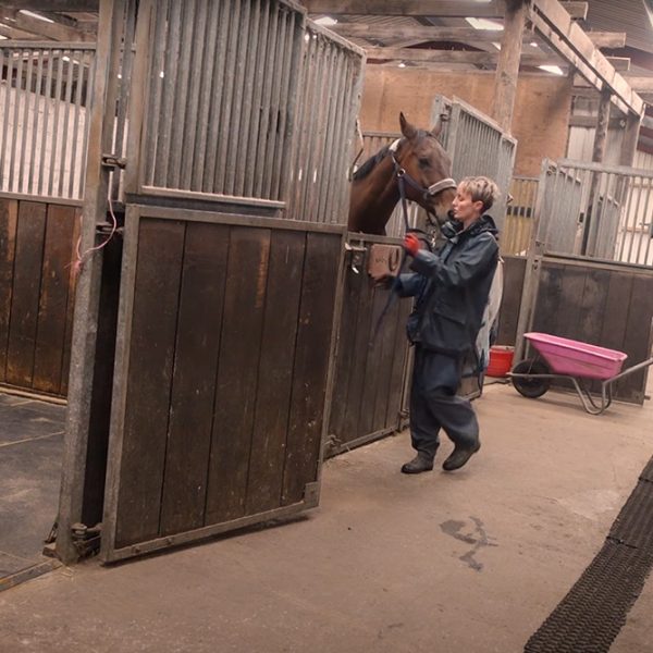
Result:
<svg viewBox="0 0 653 653">
<path fill-rule="evenodd" d="M 307 23 L 288 217 L 346 224 L 362 50 Z"/>
</svg>

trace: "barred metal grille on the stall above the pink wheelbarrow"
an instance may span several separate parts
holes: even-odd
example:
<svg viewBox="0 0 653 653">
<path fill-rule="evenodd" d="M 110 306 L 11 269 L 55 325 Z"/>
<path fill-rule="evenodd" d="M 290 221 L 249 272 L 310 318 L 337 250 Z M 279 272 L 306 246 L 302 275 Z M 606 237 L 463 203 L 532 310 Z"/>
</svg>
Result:
<svg viewBox="0 0 653 653">
<path fill-rule="evenodd" d="M 570 160 L 544 168 L 544 251 L 653 266 L 653 172 Z"/>
</svg>

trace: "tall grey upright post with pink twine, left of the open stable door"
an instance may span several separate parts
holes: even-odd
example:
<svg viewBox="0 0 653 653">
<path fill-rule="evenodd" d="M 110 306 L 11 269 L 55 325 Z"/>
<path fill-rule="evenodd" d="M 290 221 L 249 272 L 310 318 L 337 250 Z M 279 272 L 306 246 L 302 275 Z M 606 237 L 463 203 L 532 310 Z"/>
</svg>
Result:
<svg viewBox="0 0 653 653">
<path fill-rule="evenodd" d="M 113 138 L 125 2 L 126 0 L 100 0 L 81 251 L 96 245 L 97 226 L 107 220 L 109 169 L 102 167 L 102 153 L 111 152 Z M 75 562 L 78 557 L 71 527 L 82 521 L 101 268 L 102 250 L 99 250 L 85 262 L 77 281 L 75 297 L 56 546 L 58 557 L 66 564 Z"/>
</svg>

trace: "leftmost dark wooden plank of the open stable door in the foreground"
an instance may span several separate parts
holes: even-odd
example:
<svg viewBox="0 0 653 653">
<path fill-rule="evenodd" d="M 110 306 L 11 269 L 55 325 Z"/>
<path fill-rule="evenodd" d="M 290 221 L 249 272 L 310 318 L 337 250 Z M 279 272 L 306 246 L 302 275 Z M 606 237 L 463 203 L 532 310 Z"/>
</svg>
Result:
<svg viewBox="0 0 653 653">
<path fill-rule="evenodd" d="M 132 330 L 118 496 L 118 545 L 159 534 L 185 225 L 144 220 Z"/>
</svg>

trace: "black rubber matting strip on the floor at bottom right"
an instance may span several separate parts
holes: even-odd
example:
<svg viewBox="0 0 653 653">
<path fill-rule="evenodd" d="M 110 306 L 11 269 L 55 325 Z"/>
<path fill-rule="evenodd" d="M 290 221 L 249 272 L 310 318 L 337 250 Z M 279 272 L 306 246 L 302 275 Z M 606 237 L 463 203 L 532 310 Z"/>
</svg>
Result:
<svg viewBox="0 0 653 653">
<path fill-rule="evenodd" d="M 603 549 L 528 640 L 526 653 L 605 653 L 653 566 L 653 458 Z"/>
</svg>

